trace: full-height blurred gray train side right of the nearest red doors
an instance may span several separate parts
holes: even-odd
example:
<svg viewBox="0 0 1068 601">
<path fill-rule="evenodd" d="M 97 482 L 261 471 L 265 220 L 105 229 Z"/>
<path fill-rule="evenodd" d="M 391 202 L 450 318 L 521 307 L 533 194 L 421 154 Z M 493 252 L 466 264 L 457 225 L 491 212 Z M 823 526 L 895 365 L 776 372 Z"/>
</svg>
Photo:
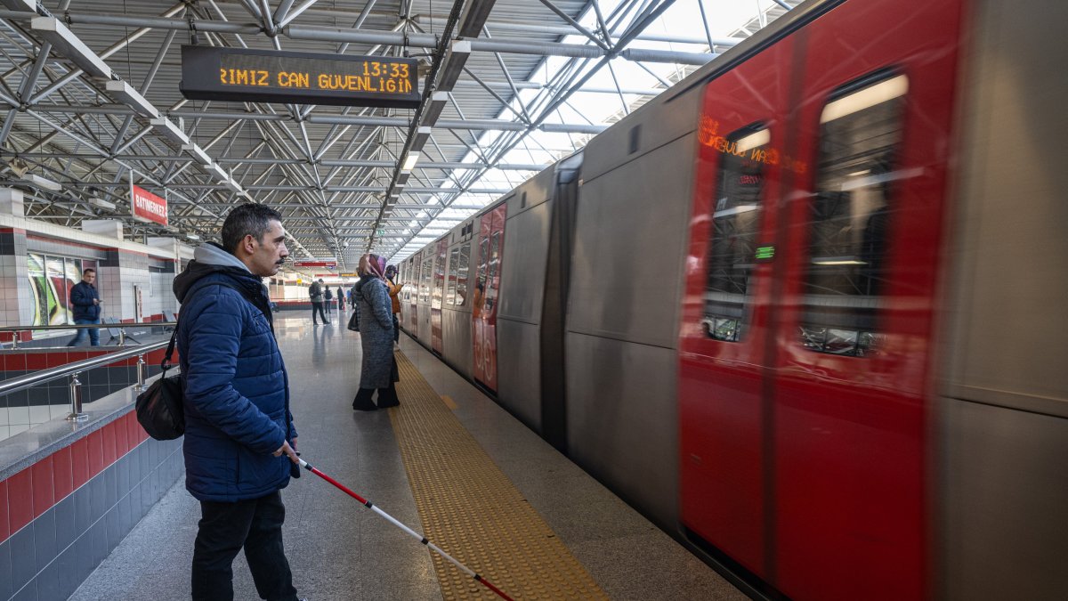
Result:
<svg viewBox="0 0 1068 601">
<path fill-rule="evenodd" d="M 941 346 L 940 597 L 1068 598 L 1068 4 L 981 0 Z M 1028 15 L 1041 14 L 1034 19 Z M 1061 15 L 1057 17 L 1056 15 Z"/>
</svg>

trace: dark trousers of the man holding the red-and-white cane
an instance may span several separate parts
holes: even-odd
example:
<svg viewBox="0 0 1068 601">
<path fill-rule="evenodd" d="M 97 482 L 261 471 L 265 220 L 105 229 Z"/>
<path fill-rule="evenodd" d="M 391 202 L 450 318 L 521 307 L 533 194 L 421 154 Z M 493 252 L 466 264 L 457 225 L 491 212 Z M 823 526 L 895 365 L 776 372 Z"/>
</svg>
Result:
<svg viewBox="0 0 1068 601">
<path fill-rule="evenodd" d="M 201 515 L 193 545 L 193 601 L 234 599 L 233 564 L 241 548 L 261 599 L 297 601 L 282 548 L 282 495 L 276 491 L 237 503 L 202 500 Z"/>
</svg>

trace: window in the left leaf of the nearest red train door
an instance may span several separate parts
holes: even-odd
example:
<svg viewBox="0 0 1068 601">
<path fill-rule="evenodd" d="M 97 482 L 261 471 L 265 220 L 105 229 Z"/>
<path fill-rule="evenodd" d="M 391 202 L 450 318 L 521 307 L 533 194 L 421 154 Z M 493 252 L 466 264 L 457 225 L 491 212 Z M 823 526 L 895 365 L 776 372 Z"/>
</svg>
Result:
<svg viewBox="0 0 1068 601">
<path fill-rule="evenodd" d="M 750 279 L 756 266 L 764 204 L 764 166 L 771 135 L 760 124 L 727 136 L 720 160 L 708 244 L 708 279 L 702 324 L 709 338 L 742 339 L 750 319 Z"/>
</svg>

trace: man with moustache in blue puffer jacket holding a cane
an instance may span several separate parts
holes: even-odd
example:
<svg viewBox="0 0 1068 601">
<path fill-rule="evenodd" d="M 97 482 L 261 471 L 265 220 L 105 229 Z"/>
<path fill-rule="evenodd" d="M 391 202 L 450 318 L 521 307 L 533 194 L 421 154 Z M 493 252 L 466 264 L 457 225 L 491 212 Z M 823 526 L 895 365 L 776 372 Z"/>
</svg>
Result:
<svg viewBox="0 0 1068 601">
<path fill-rule="evenodd" d="M 201 502 L 192 598 L 234 598 L 232 565 L 244 548 L 263 599 L 296 601 L 282 545 L 297 430 L 289 382 L 261 278 L 289 255 L 278 212 L 234 209 L 222 246 L 199 247 L 174 278 L 182 303 L 178 353 L 185 383 L 186 488 Z"/>
</svg>

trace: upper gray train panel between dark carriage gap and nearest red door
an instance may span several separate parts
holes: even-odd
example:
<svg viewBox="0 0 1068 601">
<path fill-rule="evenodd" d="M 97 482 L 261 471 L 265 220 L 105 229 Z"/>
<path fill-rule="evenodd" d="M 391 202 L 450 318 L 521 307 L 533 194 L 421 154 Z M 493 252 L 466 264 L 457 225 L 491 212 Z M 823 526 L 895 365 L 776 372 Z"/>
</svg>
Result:
<svg viewBox="0 0 1068 601">
<path fill-rule="evenodd" d="M 568 332 L 675 348 L 694 143 L 691 132 L 595 180 L 583 163 Z"/>
</svg>

